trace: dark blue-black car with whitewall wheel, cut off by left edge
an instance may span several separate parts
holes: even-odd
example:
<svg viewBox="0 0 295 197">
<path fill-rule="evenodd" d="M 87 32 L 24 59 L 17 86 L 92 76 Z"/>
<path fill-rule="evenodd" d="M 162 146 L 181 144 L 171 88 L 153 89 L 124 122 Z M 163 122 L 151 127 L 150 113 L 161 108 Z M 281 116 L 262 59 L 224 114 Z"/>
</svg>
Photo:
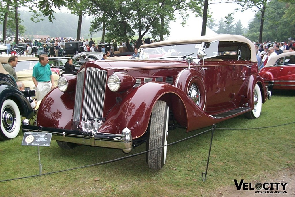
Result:
<svg viewBox="0 0 295 197">
<path fill-rule="evenodd" d="M 34 115 L 33 109 L 17 88 L 14 78 L 0 65 L 0 140 L 13 139 L 20 131 L 21 116 L 28 119 Z"/>
</svg>

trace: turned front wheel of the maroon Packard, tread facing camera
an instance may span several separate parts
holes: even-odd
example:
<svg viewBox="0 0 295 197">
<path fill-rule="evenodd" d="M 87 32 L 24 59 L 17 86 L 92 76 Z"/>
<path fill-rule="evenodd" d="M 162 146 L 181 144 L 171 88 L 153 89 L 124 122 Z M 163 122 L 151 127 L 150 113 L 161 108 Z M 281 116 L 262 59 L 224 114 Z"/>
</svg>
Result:
<svg viewBox="0 0 295 197">
<path fill-rule="evenodd" d="M 146 150 L 146 160 L 150 169 L 158 170 L 165 165 L 168 138 L 169 108 L 165 101 L 157 101 L 150 118 Z"/>
</svg>

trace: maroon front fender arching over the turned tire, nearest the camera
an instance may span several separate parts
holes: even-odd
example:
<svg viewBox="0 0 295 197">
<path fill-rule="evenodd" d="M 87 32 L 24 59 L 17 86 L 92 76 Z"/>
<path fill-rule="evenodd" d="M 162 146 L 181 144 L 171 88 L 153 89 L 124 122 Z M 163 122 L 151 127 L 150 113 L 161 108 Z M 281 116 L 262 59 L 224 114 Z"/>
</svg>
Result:
<svg viewBox="0 0 295 197">
<path fill-rule="evenodd" d="M 174 85 L 163 82 L 148 82 L 135 89 L 118 103 L 106 116 L 106 121 L 99 128 L 99 132 L 121 134 L 122 129 L 129 128 L 132 138 L 142 136 L 148 128 L 150 115 L 157 100 L 166 101 L 172 108 L 173 115 L 182 125 L 191 131 L 202 128 L 207 123 L 216 123 L 186 95 Z M 202 122 L 188 121 L 202 118 Z M 189 124 L 190 122 L 190 124 Z"/>
</svg>

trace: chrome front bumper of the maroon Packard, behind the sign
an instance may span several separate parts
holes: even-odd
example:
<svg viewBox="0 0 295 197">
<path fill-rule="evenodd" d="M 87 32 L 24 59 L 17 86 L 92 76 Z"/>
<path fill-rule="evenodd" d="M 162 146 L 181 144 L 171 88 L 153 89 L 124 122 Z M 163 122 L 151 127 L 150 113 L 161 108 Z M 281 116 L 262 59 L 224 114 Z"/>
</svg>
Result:
<svg viewBox="0 0 295 197">
<path fill-rule="evenodd" d="M 122 134 L 85 132 L 42 126 L 30 126 L 28 125 L 27 119 L 25 119 L 23 121 L 22 131 L 52 133 L 51 139 L 53 140 L 122 149 L 125 153 L 129 153 L 132 150 L 132 136 L 131 131 L 128 128 L 124 128 Z"/>
</svg>

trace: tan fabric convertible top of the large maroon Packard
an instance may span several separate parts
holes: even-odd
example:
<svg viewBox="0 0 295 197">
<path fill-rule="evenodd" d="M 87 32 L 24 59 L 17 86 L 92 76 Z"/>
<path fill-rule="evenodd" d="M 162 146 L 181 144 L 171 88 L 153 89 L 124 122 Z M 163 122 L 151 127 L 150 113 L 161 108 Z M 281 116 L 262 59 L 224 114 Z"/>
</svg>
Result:
<svg viewBox="0 0 295 197">
<path fill-rule="evenodd" d="M 255 55 L 255 45 L 248 38 L 245 38 L 244 36 L 241 36 L 241 35 L 219 34 L 214 36 L 199 36 L 198 38 L 192 39 L 192 40 L 164 40 L 164 41 L 160 41 L 156 43 L 141 45 L 140 48 L 152 48 L 152 47 L 165 46 L 165 45 L 212 42 L 214 40 L 236 41 L 241 43 L 247 43 L 251 49 L 251 61 L 257 62 L 257 58 Z"/>
</svg>

